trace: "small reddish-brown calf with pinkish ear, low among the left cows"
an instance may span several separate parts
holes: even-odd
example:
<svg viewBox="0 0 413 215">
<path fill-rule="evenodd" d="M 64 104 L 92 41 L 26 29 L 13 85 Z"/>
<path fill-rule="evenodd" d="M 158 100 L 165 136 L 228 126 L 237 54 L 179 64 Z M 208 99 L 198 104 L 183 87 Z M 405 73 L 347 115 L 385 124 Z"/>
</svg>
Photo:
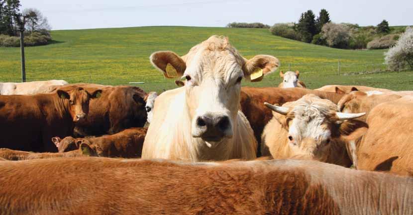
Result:
<svg viewBox="0 0 413 215">
<path fill-rule="evenodd" d="M 104 157 L 140 157 L 147 128 L 125 129 L 114 135 L 105 135 L 97 138 L 52 138 L 59 152 L 78 149 L 82 143 L 91 151 L 91 154 Z"/>
</svg>

